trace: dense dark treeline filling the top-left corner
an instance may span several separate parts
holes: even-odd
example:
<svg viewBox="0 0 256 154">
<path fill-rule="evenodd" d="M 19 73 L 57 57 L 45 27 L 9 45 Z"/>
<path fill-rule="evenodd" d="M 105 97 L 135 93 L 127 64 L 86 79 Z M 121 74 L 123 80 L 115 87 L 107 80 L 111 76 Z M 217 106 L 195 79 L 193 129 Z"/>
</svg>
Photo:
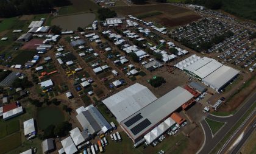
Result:
<svg viewBox="0 0 256 154">
<path fill-rule="evenodd" d="M 51 12 L 53 7 L 71 4 L 69 0 L 1 0 L 0 17 Z"/>
</svg>

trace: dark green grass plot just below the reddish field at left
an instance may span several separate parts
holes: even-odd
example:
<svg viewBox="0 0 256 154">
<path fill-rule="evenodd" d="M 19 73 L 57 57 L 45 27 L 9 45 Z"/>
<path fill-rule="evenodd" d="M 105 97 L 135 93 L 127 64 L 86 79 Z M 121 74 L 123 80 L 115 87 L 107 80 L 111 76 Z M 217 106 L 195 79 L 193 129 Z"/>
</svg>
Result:
<svg viewBox="0 0 256 154">
<path fill-rule="evenodd" d="M 17 51 L 18 54 L 11 61 L 12 64 L 20 64 L 24 65 L 28 60 L 32 60 L 32 58 L 37 54 L 35 51 Z"/>
</svg>

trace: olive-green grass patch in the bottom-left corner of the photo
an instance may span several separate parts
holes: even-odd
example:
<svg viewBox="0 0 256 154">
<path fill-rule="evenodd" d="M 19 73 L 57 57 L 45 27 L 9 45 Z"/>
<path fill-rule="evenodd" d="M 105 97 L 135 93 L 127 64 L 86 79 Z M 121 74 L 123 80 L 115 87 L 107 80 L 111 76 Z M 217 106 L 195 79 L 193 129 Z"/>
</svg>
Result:
<svg viewBox="0 0 256 154">
<path fill-rule="evenodd" d="M 9 152 L 21 145 L 21 133 L 14 133 L 6 138 L 0 139 L 0 154 Z"/>
</svg>

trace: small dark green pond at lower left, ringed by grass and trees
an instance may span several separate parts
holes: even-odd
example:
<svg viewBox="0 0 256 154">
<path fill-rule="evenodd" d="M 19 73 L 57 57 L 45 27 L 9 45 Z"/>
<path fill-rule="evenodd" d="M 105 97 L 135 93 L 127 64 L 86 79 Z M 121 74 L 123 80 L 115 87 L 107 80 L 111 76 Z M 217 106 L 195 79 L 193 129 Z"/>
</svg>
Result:
<svg viewBox="0 0 256 154">
<path fill-rule="evenodd" d="M 65 115 L 58 107 L 42 107 L 37 110 L 37 124 L 40 130 L 63 121 L 65 121 Z"/>
</svg>

